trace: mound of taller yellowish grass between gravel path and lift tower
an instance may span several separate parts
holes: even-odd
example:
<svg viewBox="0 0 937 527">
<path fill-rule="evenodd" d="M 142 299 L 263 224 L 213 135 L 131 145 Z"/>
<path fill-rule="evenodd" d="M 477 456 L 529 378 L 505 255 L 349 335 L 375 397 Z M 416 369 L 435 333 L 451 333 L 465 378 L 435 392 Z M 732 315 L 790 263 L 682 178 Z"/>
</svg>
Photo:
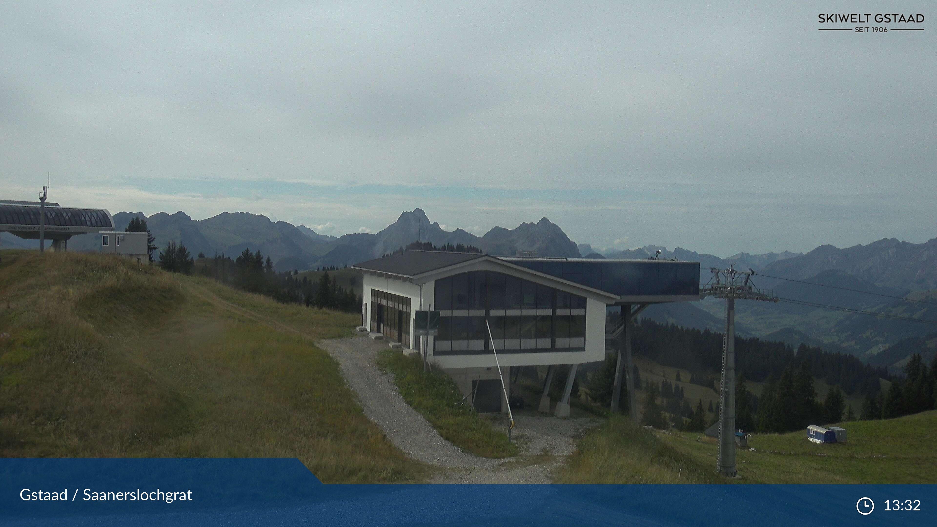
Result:
<svg viewBox="0 0 937 527">
<path fill-rule="evenodd" d="M 720 483 L 704 465 L 613 415 L 586 432 L 576 453 L 560 469 L 557 483 Z"/>
</svg>

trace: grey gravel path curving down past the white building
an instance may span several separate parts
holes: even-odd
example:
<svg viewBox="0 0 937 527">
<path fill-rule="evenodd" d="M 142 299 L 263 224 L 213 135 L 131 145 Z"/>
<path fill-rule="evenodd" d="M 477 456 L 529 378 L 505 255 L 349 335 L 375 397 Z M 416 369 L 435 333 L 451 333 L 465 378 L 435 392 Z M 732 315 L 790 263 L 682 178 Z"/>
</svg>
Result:
<svg viewBox="0 0 937 527">
<path fill-rule="evenodd" d="M 317 344 L 341 366 L 342 375 L 358 395 L 364 414 L 410 458 L 439 468 L 432 483 L 550 483 L 564 457 L 573 454 L 573 437 L 594 426 L 593 419 L 515 415 L 513 438 L 521 455 L 510 459 L 479 458 L 442 439 L 423 415 L 400 396 L 394 379 L 376 365 L 387 343 L 364 336 L 326 339 Z M 507 417 L 503 426 L 507 428 Z"/>
</svg>

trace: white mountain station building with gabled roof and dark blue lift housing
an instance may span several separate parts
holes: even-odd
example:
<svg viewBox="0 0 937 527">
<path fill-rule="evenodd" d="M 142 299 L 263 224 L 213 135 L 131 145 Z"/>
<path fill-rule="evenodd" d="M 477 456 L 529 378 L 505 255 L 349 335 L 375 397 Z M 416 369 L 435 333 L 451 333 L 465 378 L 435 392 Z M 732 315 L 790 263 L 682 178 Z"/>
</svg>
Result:
<svg viewBox="0 0 937 527">
<path fill-rule="evenodd" d="M 575 371 L 580 364 L 604 360 L 607 334 L 624 333 L 616 385 L 624 373 L 633 393 L 629 324 L 647 305 L 699 300 L 699 266 L 407 250 L 352 268 L 364 275 L 367 330 L 425 354 L 429 363 L 454 378 L 480 412 L 506 409 L 494 345 L 502 368 L 548 367 L 542 412 L 550 411 L 553 367 L 572 365 L 556 410 L 558 416 L 568 416 Z M 622 308 L 615 328 L 606 328 L 608 306 Z M 418 309 L 439 310 L 438 335 L 414 336 Z"/>
</svg>

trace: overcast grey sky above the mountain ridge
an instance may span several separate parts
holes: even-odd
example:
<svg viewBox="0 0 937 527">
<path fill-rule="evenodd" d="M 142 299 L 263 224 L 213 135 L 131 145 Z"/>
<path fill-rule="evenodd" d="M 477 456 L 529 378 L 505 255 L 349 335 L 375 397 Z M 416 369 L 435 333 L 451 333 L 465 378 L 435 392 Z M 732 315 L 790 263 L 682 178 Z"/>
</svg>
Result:
<svg viewBox="0 0 937 527">
<path fill-rule="evenodd" d="M 937 8 L 815 4 L 4 2 L 2 197 L 723 257 L 937 237 Z M 891 30 L 818 31 L 855 25 Z"/>
</svg>

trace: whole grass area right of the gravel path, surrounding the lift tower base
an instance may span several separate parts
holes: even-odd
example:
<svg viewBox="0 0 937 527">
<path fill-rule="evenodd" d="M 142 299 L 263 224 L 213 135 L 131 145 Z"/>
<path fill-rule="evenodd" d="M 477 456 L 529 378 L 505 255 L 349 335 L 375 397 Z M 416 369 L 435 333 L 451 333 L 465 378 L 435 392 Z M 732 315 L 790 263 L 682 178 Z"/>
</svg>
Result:
<svg viewBox="0 0 937 527">
<path fill-rule="evenodd" d="M 846 444 L 811 443 L 806 430 L 752 436 L 729 480 L 716 474 L 715 439 L 616 417 L 586 434 L 558 483 L 937 483 L 937 411 L 839 426 Z"/>
</svg>

